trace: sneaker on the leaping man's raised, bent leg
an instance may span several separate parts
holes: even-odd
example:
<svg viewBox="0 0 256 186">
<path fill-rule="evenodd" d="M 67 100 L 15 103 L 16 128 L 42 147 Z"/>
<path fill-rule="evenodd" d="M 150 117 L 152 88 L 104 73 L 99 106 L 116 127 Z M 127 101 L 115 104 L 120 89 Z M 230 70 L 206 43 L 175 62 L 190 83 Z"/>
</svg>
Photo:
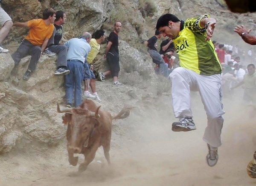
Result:
<svg viewBox="0 0 256 186">
<path fill-rule="evenodd" d="M 172 131 L 180 132 L 180 131 L 192 131 L 195 130 L 195 123 L 192 118 L 182 117 L 179 122 L 172 123 Z"/>
</svg>

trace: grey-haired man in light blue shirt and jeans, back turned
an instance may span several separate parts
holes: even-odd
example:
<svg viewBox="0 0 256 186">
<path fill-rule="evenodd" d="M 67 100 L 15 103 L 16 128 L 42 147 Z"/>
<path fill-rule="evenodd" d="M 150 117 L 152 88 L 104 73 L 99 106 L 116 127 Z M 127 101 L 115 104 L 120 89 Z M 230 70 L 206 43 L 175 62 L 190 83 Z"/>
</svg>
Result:
<svg viewBox="0 0 256 186">
<path fill-rule="evenodd" d="M 75 107 L 82 102 L 81 82 L 84 78 L 84 61 L 90 52 L 90 40 L 92 35 L 84 32 L 81 38 L 72 38 L 64 43 L 67 46 L 67 69 L 70 73 L 65 76 L 65 89 L 67 97 L 67 107 L 72 107 L 73 92 Z"/>
</svg>

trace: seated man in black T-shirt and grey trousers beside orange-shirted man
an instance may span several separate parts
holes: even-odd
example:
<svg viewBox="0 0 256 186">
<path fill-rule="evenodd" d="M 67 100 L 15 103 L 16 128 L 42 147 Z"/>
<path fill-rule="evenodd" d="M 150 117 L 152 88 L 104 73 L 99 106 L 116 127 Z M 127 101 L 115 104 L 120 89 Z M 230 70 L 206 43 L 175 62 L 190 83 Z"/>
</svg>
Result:
<svg viewBox="0 0 256 186">
<path fill-rule="evenodd" d="M 52 52 L 58 54 L 57 69 L 54 75 L 67 75 L 70 70 L 67 70 L 67 46 L 60 45 L 62 38 L 63 24 L 66 22 L 66 14 L 63 11 L 56 12 L 56 19 L 54 21 L 54 31 L 52 37 L 48 41 L 48 48 L 44 50 L 43 54 L 49 57 L 55 56 Z"/>
</svg>

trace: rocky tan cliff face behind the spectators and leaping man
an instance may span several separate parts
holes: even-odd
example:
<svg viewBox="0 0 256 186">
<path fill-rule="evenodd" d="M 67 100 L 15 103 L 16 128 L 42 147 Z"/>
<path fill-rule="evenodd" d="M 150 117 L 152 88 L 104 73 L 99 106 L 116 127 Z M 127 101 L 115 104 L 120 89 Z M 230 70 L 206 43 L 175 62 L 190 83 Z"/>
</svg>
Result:
<svg viewBox="0 0 256 186">
<path fill-rule="evenodd" d="M 146 109 L 154 112 L 157 110 L 154 106 L 159 106 L 155 102 L 156 97 L 165 97 L 162 93 L 169 92 L 168 81 L 154 74 L 151 58 L 143 52 L 142 47 L 144 40 L 154 33 L 156 20 L 161 14 L 173 13 L 180 19 L 210 14 L 218 23 L 214 39 L 231 44 L 239 44 L 238 40 L 241 41 L 233 34 L 233 27 L 241 23 L 253 27 L 255 15 L 231 13 L 218 0 L 2 0 L 1 3 L 14 22 L 40 18 L 42 11 L 49 6 L 55 10 L 64 10 L 67 14 L 67 23 L 64 25 L 63 40 L 77 37 L 83 31 L 93 33 L 97 29 L 105 29 L 108 35 L 114 21 L 120 20 L 123 28 L 119 36 L 122 41 L 119 46 L 119 80 L 125 86 L 112 87 L 111 80 L 96 82 L 97 92 L 103 100 L 103 109 L 112 114 L 119 112 L 125 103 L 137 106 L 135 111 Z M 11 50 L 10 53 L 17 49 L 18 43 L 26 33 L 27 30 L 23 28 L 12 29 L 4 42 Z M 98 59 L 101 58 L 103 50 L 104 44 Z M 56 112 L 56 103 L 64 104 L 65 94 L 64 78 L 53 75 L 56 59 L 41 57 L 32 77 L 28 81 L 23 81 L 21 77 L 28 66 L 29 58 L 25 57 L 21 61 L 17 77 L 12 77 L 10 71 L 14 62 L 10 54 L 0 54 L 2 153 L 9 152 L 15 146 L 34 148 L 38 143 L 45 147 L 55 146 L 65 136 L 66 126 L 61 124 L 61 114 Z M 99 60 L 96 69 L 104 69 L 103 60 Z M 166 112 L 171 113 L 170 110 Z M 148 114 L 134 114 L 141 113 L 145 116 Z M 129 122 L 136 125 L 133 118 Z M 118 134 L 125 133 L 119 123 L 115 126 L 113 140 Z"/>
</svg>

